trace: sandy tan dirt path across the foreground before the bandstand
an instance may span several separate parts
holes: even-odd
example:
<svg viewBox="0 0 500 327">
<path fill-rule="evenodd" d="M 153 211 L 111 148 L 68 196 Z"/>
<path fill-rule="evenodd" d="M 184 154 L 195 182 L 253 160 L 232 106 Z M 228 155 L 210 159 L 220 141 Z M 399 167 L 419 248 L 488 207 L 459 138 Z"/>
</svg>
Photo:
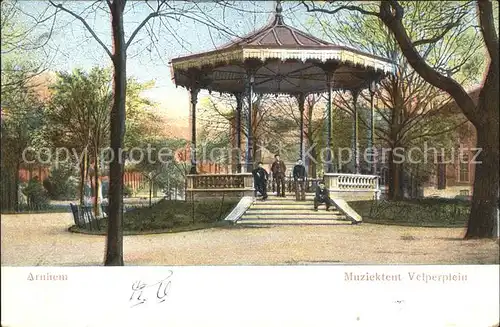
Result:
<svg viewBox="0 0 500 327">
<path fill-rule="evenodd" d="M 2 265 L 101 265 L 103 236 L 73 234 L 69 213 L 2 215 Z M 498 244 L 462 229 L 281 226 L 126 236 L 127 265 L 493 264 Z"/>
</svg>

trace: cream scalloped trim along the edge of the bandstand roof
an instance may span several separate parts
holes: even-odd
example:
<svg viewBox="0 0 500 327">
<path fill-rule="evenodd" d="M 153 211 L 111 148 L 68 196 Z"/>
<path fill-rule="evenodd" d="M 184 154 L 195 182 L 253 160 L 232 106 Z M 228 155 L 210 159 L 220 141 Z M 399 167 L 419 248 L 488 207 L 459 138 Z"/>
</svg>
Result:
<svg viewBox="0 0 500 327">
<path fill-rule="evenodd" d="M 222 52 L 216 52 L 203 57 L 194 57 L 178 62 L 172 61 L 174 70 L 187 70 L 189 68 L 202 68 L 203 66 L 215 66 L 223 63 L 228 63 L 233 60 L 244 61 L 245 59 L 279 59 L 282 61 L 288 59 L 301 60 L 338 60 L 344 63 L 371 67 L 375 70 L 384 71 L 387 73 L 395 73 L 396 65 L 387 61 L 379 60 L 372 56 L 359 54 L 348 49 L 283 49 L 283 48 L 245 48 L 245 49 L 230 49 Z"/>
</svg>

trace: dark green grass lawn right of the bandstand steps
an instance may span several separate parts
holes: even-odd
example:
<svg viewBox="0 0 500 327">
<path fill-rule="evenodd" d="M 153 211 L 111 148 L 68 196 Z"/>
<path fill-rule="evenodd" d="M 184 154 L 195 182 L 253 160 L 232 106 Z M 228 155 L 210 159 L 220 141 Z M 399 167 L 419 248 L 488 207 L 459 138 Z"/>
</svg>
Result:
<svg viewBox="0 0 500 327">
<path fill-rule="evenodd" d="M 367 223 L 420 227 L 465 227 L 470 202 L 458 199 L 349 202 Z"/>
</svg>

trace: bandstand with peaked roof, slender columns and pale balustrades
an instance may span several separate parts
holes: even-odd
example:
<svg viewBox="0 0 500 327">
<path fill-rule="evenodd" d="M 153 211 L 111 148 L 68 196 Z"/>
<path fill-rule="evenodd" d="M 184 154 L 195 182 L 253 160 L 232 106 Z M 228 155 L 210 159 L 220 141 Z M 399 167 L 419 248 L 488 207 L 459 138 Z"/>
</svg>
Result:
<svg viewBox="0 0 500 327">
<path fill-rule="evenodd" d="M 371 124 L 368 148 L 374 137 L 373 95 L 376 84 L 395 71 L 390 60 L 335 45 L 285 24 L 281 2 L 269 24 L 216 50 L 171 60 L 172 79 L 190 92 L 191 172 L 187 176 L 187 194 L 195 199 L 252 196 L 252 99 L 255 94 L 290 95 L 298 101 L 300 117 L 300 150 L 304 156 L 304 102 L 312 93 L 325 93 L 327 149 L 332 149 L 332 93 L 349 91 L 354 101 L 353 134 L 354 174 L 335 171 L 332 150 L 327 150 L 323 179 L 332 197 L 350 200 L 373 199 L 378 195 L 378 177 L 359 173 L 358 95 L 369 89 Z M 241 126 L 246 124 L 247 137 L 244 161 L 238 153 L 236 170 L 229 174 L 198 174 L 196 170 L 196 105 L 200 90 L 231 94 L 236 100 L 236 143 L 242 149 Z M 246 104 L 247 120 L 241 121 Z"/>
</svg>

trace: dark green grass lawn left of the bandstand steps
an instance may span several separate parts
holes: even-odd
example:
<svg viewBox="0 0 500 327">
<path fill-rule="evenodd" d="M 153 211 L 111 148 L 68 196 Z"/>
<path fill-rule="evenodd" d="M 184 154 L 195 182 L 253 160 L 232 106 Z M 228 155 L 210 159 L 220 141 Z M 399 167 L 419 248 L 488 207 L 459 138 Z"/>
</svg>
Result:
<svg viewBox="0 0 500 327">
<path fill-rule="evenodd" d="M 180 232 L 225 225 L 224 218 L 236 206 L 234 200 L 185 202 L 160 200 L 151 208 L 140 207 L 123 214 L 126 235 Z M 100 231 L 87 231 L 72 226 L 71 231 L 105 234 L 107 219 L 100 220 Z"/>
</svg>

